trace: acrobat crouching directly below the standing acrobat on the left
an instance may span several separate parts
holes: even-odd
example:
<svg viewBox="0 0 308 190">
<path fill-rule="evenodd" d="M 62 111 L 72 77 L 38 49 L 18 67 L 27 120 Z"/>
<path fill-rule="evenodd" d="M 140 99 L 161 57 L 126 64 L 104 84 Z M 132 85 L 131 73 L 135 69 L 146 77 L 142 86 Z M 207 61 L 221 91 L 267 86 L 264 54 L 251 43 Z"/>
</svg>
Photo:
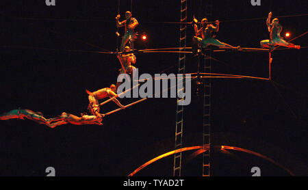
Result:
<svg viewBox="0 0 308 190">
<path fill-rule="evenodd" d="M 129 46 L 125 46 L 124 53 L 121 55 L 117 55 L 118 60 L 121 64 L 120 71 L 120 79 L 118 81 L 123 81 L 124 75 L 121 74 L 131 74 L 132 76 L 136 73 L 136 67 L 132 66 L 131 64 L 136 64 L 136 56 L 133 55 L 133 53 L 129 53 L 130 49 Z M 120 85 L 120 82 L 116 83 L 116 89 L 118 89 L 118 86 Z"/>
</svg>

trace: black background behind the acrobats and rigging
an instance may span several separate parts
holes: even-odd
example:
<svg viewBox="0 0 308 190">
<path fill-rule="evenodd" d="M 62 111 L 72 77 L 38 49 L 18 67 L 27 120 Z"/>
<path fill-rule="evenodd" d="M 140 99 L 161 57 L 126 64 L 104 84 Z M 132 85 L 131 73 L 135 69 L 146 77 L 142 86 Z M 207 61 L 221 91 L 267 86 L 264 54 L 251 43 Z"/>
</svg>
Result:
<svg viewBox="0 0 308 190">
<path fill-rule="evenodd" d="M 189 21 L 192 14 L 200 20 L 205 16 L 205 3 L 189 1 Z M 147 42 L 136 42 L 136 49 L 179 45 L 179 25 L 164 23 L 179 21 L 179 1 L 134 0 L 132 7 L 140 23 L 137 30 L 148 35 Z M 122 21 L 131 1 L 121 0 L 119 8 Z M 88 105 L 85 89 L 94 91 L 116 82 L 120 64 L 115 55 L 64 50 L 115 51 L 118 1 L 56 0 L 55 6 L 44 1 L 1 1 L 0 11 L 1 113 L 21 107 L 42 111 L 46 118 L 62 111 L 79 116 Z M 248 0 L 215 1 L 214 18 L 209 21 L 222 21 L 217 36 L 222 42 L 259 48 L 259 41 L 269 38 L 266 17 L 270 11 L 273 17 L 306 14 L 307 2 L 263 0 L 261 6 L 252 6 Z M 244 18 L 264 19 L 230 22 Z M 307 31 L 307 16 L 281 18 L 280 23 L 281 34 L 290 31 L 290 39 Z M 188 46 L 192 35 L 188 26 Z M 307 46 L 307 36 L 294 44 Z M 272 80 L 277 88 L 270 81 L 213 80 L 214 143 L 286 159 L 285 167 L 302 168 L 299 174 L 307 174 L 306 53 L 306 49 L 272 53 Z M 166 73 L 176 73 L 178 56 L 137 54 L 137 67 L 140 73 L 155 74 L 170 67 Z M 268 53 L 214 53 L 213 57 L 220 60 L 213 62 L 213 72 L 268 77 Z M 195 57 L 188 55 L 186 64 L 187 72 L 196 72 Z M 203 100 L 194 90 L 193 83 L 193 100 L 185 107 L 184 146 L 202 142 Z M 114 108 L 110 103 L 102 112 Z M 48 128 L 30 120 L 1 121 L 0 175 L 45 176 L 44 169 L 52 166 L 57 176 L 127 176 L 173 149 L 175 111 L 175 98 L 151 98 L 108 116 L 103 126 Z M 288 175 L 264 159 L 233 153 L 213 155 L 214 176 L 251 176 L 253 166 L 260 167 L 264 176 Z M 138 175 L 172 176 L 172 158 L 157 161 Z M 201 164 L 201 157 L 188 161 L 183 176 L 201 176 Z"/>
</svg>

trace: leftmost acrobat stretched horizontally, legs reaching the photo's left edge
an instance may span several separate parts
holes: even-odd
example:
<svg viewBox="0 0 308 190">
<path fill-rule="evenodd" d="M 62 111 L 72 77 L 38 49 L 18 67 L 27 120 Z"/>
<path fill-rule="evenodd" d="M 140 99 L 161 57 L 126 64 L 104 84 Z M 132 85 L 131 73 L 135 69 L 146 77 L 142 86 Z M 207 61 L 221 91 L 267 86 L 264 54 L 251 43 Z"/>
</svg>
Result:
<svg viewBox="0 0 308 190">
<path fill-rule="evenodd" d="M 29 109 L 13 109 L 7 113 L 2 113 L 0 115 L 0 120 L 10 120 L 10 119 L 21 119 L 33 120 L 39 124 L 46 124 L 49 126 L 50 120 L 44 118 L 41 112 L 31 111 Z"/>
</svg>

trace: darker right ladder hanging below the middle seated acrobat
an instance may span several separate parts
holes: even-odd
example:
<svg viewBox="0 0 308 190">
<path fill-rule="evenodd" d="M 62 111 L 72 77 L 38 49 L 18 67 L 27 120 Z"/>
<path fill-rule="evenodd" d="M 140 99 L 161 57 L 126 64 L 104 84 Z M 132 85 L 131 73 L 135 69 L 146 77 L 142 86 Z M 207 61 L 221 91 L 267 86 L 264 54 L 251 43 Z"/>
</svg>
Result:
<svg viewBox="0 0 308 190">
<path fill-rule="evenodd" d="M 212 16 L 213 1 L 206 1 L 206 16 Z M 205 51 L 204 72 L 211 73 L 211 49 Z M 207 58 L 209 57 L 209 58 Z M 202 176 L 210 176 L 211 163 L 211 79 L 203 80 L 203 173 Z"/>
</svg>

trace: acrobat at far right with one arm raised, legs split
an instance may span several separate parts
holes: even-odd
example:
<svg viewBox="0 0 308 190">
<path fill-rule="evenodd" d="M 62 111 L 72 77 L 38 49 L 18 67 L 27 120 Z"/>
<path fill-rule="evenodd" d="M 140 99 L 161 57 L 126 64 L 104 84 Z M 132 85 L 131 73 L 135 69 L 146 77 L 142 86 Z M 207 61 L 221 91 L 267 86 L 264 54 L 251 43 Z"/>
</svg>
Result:
<svg viewBox="0 0 308 190">
<path fill-rule="evenodd" d="M 262 40 L 260 42 L 262 48 L 269 48 L 273 51 L 277 46 L 285 46 L 293 49 L 300 49 L 300 46 L 296 46 L 292 43 L 285 42 L 280 36 L 282 31 L 282 26 L 279 24 L 278 18 L 274 18 L 272 23 L 270 19 L 272 18 L 272 12 L 268 14 L 268 19 L 266 20 L 266 25 L 268 26 L 268 31 L 270 32 L 270 40 Z"/>
</svg>

